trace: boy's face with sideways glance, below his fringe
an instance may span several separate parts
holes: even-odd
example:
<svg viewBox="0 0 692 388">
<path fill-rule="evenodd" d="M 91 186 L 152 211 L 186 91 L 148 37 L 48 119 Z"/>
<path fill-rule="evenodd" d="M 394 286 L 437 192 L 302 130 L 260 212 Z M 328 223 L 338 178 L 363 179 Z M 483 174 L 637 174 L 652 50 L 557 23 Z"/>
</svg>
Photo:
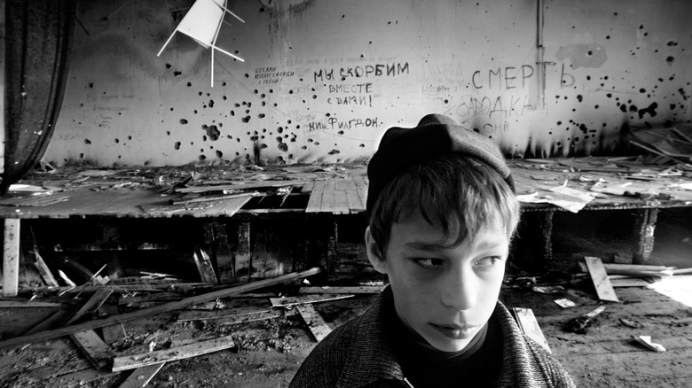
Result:
<svg viewBox="0 0 692 388">
<path fill-rule="evenodd" d="M 392 225 L 384 258 L 369 229 L 366 245 L 374 268 L 389 277 L 399 319 L 436 349 L 458 352 L 490 319 L 509 241 L 499 217 L 457 246 L 449 247 L 456 230 L 449 235 L 415 213 Z"/>
</svg>

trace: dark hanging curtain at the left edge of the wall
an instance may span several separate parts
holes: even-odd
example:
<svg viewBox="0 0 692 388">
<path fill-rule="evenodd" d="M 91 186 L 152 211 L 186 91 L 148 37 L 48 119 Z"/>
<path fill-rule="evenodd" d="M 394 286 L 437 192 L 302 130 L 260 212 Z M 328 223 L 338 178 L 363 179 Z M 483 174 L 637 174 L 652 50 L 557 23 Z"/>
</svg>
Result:
<svg viewBox="0 0 692 388">
<path fill-rule="evenodd" d="M 76 0 L 5 3 L 4 172 L 0 194 L 51 140 L 67 82 Z"/>
</svg>

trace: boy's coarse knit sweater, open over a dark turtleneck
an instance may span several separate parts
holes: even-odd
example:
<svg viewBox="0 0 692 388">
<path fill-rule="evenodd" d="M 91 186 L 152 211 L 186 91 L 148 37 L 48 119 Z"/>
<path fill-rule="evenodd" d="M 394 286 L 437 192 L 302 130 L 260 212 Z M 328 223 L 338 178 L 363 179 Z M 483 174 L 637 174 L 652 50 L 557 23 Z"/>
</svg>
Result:
<svg viewBox="0 0 692 388">
<path fill-rule="evenodd" d="M 365 314 L 335 329 L 303 361 L 289 387 L 408 388 L 390 330 L 383 323 L 393 303 L 388 288 Z M 501 302 L 491 319 L 499 322 L 503 336 L 502 368 L 496 387 L 575 387 L 562 364 L 523 334 Z"/>
</svg>

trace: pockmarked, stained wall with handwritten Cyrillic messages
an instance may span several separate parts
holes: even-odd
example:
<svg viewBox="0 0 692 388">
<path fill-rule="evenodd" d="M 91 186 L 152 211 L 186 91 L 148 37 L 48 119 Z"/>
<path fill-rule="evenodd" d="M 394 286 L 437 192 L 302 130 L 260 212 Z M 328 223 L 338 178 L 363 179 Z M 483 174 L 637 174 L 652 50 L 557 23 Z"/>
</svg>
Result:
<svg viewBox="0 0 692 388">
<path fill-rule="evenodd" d="M 156 57 L 193 1 L 82 1 L 44 159 L 351 162 L 432 112 L 507 155 L 609 154 L 690 122 L 692 3 L 537 1 L 230 1 L 217 45 L 245 62 L 216 52 L 213 88 L 189 37 Z"/>
</svg>

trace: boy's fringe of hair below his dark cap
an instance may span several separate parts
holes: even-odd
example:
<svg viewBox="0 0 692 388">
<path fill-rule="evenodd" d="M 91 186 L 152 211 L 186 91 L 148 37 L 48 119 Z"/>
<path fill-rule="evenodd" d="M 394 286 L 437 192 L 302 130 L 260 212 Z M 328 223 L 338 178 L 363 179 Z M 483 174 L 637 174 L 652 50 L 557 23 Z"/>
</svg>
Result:
<svg viewBox="0 0 692 388">
<path fill-rule="evenodd" d="M 392 224 L 415 212 L 440 226 L 447 238 L 458 225 L 456 246 L 496 216 L 511 239 L 521 210 L 512 188 L 492 167 L 466 154 L 448 153 L 407 167 L 381 190 L 370 214 L 370 232 L 382 258 Z"/>
</svg>

